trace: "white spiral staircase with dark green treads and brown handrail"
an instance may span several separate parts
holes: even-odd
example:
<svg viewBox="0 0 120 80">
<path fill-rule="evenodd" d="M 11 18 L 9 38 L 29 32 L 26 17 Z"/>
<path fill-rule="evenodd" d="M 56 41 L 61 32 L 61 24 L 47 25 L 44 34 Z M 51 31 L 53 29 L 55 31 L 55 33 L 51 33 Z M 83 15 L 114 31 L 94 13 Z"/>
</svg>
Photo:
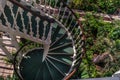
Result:
<svg viewBox="0 0 120 80">
<path fill-rule="evenodd" d="M 85 53 L 85 38 L 69 3 L 69 0 L 0 1 L 0 32 L 11 39 L 8 45 L 1 38 L 0 48 L 13 61 L 20 80 L 68 80 L 79 67 Z M 15 55 L 7 47 L 14 47 Z"/>
</svg>

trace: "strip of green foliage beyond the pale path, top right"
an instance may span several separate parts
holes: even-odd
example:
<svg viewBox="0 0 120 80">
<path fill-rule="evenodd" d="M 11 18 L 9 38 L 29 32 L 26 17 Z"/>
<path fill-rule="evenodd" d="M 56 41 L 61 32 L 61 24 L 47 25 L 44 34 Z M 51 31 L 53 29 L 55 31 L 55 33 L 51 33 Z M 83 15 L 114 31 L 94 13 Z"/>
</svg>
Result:
<svg viewBox="0 0 120 80">
<path fill-rule="evenodd" d="M 73 0 L 71 6 L 85 11 L 114 13 L 120 8 L 120 0 Z"/>
</svg>

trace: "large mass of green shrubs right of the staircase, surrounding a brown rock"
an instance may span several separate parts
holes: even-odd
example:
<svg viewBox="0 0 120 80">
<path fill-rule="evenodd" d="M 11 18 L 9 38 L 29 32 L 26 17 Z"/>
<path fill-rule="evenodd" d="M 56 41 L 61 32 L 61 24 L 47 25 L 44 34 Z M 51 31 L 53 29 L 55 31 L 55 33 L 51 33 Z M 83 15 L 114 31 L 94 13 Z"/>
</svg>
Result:
<svg viewBox="0 0 120 80">
<path fill-rule="evenodd" d="M 111 76 L 119 70 L 120 25 L 116 22 L 105 22 L 102 17 L 95 16 L 94 13 L 87 13 L 84 18 L 85 21 L 82 23 L 86 35 L 86 55 L 76 75 L 78 78 Z M 93 54 L 103 54 L 106 51 L 115 58 L 115 62 L 106 59 L 103 69 L 98 71 L 92 61 Z"/>
</svg>

